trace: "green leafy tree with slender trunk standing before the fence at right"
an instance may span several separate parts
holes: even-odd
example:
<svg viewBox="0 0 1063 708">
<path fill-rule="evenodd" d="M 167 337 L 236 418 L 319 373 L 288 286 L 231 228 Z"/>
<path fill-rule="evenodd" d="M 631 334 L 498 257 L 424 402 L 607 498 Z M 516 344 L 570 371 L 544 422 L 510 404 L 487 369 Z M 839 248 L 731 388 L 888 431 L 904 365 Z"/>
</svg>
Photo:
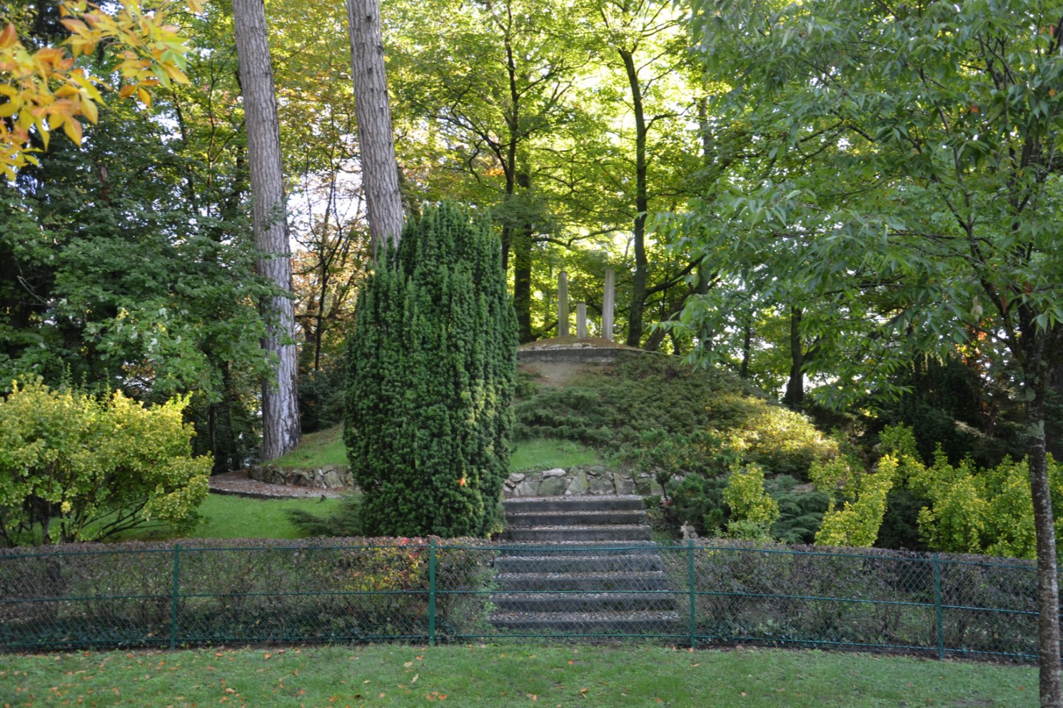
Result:
<svg viewBox="0 0 1063 708">
<path fill-rule="evenodd" d="M 972 337 L 1014 366 L 1036 527 L 1041 703 L 1063 705 L 1044 435 L 1063 343 L 1063 5 L 696 0 L 693 10 L 708 69 L 733 77 L 732 119 L 752 123 L 770 159 L 799 159 L 804 171 L 779 175 L 769 162 L 721 185 L 690 223 L 733 262 L 766 264 L 829 305 L 830 328 L 850 342 L 831 390 L 859 392 L 913 351 Z M 807 319 L 803 328 L 827 333 Z"/>
</svg>

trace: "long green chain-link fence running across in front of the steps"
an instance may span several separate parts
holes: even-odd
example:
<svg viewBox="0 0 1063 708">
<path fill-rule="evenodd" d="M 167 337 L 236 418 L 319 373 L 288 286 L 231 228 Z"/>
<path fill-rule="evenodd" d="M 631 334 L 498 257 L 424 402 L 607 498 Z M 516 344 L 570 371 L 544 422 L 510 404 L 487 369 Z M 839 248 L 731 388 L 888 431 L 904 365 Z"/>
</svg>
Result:
<svg viewBox="0 0 1063 708">
<path fill-rule="evenodd" d="M 1036 658 L 1033 563 L 436 539 L 0 551 L 0 650 L 595 638 Z"/>
</svg>

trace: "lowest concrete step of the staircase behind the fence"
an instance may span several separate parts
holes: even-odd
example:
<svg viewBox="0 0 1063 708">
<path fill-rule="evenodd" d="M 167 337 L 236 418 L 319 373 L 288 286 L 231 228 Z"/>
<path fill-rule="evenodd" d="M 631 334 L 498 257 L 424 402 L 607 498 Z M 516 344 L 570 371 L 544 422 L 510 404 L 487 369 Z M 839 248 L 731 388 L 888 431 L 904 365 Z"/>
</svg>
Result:
<svg viewBox="0 0 1063 708">
<path fill-rule="evenodd" d="M 682 631 L 679 616 L 642 612 L 492 612 L 488 621 L 500 629 L 568 635 L 674 635 Z"/>
</svg>

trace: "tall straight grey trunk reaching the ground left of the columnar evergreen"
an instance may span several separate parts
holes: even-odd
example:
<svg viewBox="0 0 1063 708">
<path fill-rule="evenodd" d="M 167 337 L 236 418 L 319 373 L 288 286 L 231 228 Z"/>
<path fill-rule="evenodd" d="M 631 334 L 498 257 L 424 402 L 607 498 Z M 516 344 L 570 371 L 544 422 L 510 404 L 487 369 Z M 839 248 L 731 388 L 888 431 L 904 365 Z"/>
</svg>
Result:
<svg viewBox="0 0 1063 708">
<path fill-rule="evenodd" d="M 243 116 L 248 132 L 248 166 L 255 246 L 271 258 L 258 259 L 258 272 L 284 292 L 291 292 L 291 257 L 281 162 L 281 127 L 276 115 L 273 67 L 263 0 L 233 0 L 236 52 L 240 63 Z M 267 318 L 263 347 L 276 355 L 276 380 L 263 384 L 263 459 L 288 452 L 300 438 L 296 389 L 294 308 L 291 298 L 276 296 L 261 304 Z"/>
</svg>

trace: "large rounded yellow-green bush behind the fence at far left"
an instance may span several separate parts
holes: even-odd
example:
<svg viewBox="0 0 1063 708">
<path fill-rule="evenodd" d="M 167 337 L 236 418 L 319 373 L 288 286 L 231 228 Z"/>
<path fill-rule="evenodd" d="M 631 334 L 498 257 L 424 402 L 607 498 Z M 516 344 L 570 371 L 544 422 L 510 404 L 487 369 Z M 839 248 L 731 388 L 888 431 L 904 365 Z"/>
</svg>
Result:
<svg viewBox="0 0 1063 708">
<path fill-rule="evenodd" d="M 186 403 L 145 408 L 121 393 L 16 383 L 0 401 L 0 539 L 86 541 L 193 519 L 212 460 L 191 456 Z"/>
</svg>

